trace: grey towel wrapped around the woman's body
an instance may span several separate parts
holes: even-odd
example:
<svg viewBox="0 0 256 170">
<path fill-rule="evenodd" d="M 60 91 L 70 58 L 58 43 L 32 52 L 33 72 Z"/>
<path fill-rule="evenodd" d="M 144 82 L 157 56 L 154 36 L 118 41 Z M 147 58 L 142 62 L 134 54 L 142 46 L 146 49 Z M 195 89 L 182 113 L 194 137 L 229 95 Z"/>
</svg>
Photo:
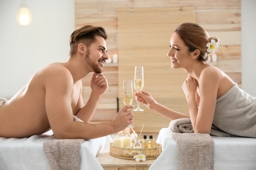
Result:
<svg viewBox="0 0 256 170">
<path fill-rule="evenodd" d="M 213 125 L 232 135 L 256 138 L 256 97 L 235 83 L 217 98 Z"/>
</svg>

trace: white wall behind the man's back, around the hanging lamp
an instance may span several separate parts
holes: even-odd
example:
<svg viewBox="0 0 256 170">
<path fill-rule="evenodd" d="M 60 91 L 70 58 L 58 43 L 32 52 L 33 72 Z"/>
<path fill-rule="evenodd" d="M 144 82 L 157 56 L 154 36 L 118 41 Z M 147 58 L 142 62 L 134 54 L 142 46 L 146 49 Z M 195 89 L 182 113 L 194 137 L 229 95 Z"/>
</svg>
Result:
<svg viewBox="0 0 256 170">
<path fill-rule="evenodd" d="M 26 0 L 32 24 L 18 25 L 22 0 L 0 0 L 0 97 L 12 97 L 35 73 L 68 59 L 75 29 L 74 0 Z"/>
</svg>

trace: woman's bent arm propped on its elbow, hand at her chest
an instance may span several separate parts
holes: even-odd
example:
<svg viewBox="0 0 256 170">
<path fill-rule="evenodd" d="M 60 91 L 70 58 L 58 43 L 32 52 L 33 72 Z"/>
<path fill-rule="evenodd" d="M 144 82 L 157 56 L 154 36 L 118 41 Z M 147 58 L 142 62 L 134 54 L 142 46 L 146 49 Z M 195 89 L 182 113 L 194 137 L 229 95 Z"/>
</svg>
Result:
<svg viewBox="0 0 256 170">
<path fill-rule="evenodd" d="M 192 87 L 193 79 L 194 78 L 187 80 L 187 84 L 190 83 L 190 88 Z M 203 69 L 200 80 L 198 81 L 200 93 L 199 106 L 196 103 L 196 90 L 188 90 L 189 92 L 188 95 L 186 95 L 186 99 L 188 101 L 192 126 L 196 133 L 210 133 L 211 131 L 219 80 L 220 76 L 216 69 L 213 67 Z"/>
</svg>

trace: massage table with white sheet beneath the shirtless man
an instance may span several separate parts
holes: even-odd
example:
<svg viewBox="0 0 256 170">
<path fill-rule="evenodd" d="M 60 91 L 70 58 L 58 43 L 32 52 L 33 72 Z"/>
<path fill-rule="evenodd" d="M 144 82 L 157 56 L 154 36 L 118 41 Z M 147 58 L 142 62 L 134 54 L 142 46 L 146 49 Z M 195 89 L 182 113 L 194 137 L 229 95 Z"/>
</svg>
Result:
<svg viewBox="0 0 256 170">
<path fill-rule="evenodd" d="M 43 150 L 44 141 L 52 135 L 49 131 L 43 135 L 33 135 L 22 139 L 0 137 L 0 169 L 51 169 Z M 109 150 L 112 137 L 99 137 L 81 144 L 80 169 L 102 169 L 96 156 L 102 150 Z"/>
</svg>

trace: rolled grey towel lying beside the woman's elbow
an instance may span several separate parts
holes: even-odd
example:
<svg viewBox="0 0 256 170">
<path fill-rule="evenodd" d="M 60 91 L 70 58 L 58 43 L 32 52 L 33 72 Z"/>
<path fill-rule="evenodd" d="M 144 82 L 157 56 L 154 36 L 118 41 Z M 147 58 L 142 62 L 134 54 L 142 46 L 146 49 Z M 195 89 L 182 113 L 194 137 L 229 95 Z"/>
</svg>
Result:
<svg viewBox="0 0 256 170">
<path fill-rule="evenodd" d="M 175 133 L 194 133 L 190 118 L 171 120 L 168 129 Z"/>
</svg>

